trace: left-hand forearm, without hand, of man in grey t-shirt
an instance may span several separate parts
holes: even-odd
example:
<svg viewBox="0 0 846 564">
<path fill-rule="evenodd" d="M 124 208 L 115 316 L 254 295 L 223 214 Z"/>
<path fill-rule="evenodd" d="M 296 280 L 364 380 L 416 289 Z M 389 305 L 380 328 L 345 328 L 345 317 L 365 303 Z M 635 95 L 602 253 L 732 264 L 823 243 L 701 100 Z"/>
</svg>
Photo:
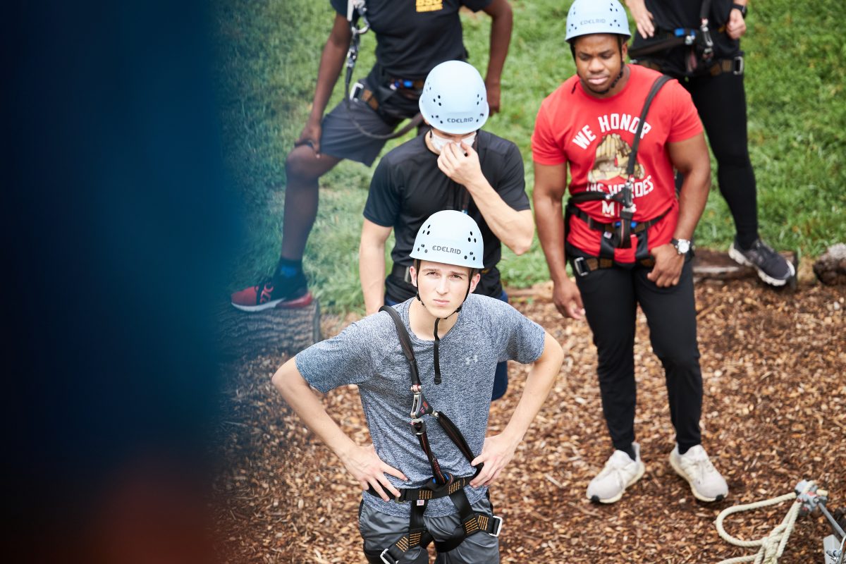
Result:
<svg viewBox="0 0 846 564">
<path fill-rule="evenodd" d="M 344 454 L 355 446 L 353 440 L 329 417 L 323 403 L 311 392 L 308 383 L 299 374 L 294 359 L 288 360 L 277 370 L 272 382 L 305 426 L 332 449 L 338 458 L 343 459 Z"/>
</svg>

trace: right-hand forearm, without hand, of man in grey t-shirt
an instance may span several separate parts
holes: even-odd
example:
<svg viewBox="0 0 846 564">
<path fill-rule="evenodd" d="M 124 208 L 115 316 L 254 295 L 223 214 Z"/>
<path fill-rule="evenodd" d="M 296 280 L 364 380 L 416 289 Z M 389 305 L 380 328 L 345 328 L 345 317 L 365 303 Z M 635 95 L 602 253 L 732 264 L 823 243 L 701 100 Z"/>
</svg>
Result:
<svg viewBox="0 0 846 564">
<path fill-rule="evenodd" d="M 523 388 L 523 395 L 520 397 L 517 407 L 514 408 L 514 413 L 508 420 L 508 425 L 503 430 L 503 435 L 508 438 L 510 443 L 516 445 L 523 440 L 531 422 L 535 420 L 543 402 L 546 401 L 550 390 L 552 390 L 558 371 L 561 370 L 563 359 L 564 353 L 561 350 L 561 345 L 552 335 L 546 333 L 543 353 L 530 370 Z"/>
</svg>

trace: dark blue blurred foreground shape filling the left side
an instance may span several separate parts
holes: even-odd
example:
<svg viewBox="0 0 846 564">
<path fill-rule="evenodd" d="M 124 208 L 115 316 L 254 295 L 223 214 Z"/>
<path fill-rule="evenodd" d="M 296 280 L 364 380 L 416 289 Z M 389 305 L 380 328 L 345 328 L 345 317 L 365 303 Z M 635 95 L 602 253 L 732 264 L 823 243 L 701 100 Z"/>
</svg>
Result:
<svg viewBox="0 0 846 564">
<path fill-rule="evenodd" d="M 3 5 L 3 560 L 209 561 L 239 227 L 209 5 Z"/>
</svg>

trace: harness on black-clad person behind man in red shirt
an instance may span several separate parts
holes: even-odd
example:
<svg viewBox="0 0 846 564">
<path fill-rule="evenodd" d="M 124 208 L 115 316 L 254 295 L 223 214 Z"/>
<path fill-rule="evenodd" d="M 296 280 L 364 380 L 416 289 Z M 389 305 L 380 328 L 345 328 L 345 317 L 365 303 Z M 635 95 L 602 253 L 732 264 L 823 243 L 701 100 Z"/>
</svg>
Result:
<svg viewBox="0 0 846 564">
<path fill-rule="evenodd" d="M 685 69 L 688 74 L 695 74 L 700 68 L 705 68 L 711 76 L 722 73 L 743 74 L 743 55 L 726 59 L 714 58 L 714 40 L 711 37 L 711 27 L 708 14 L 711 11 L 711 0 L 704 0 L 700 8 L 700 26 L 698 30 L 679 27 L 674 30 L 656 30 L 655 41 L 650 41 L 643 47 L 629 49 L 629 58 L 634 64 L 652 68 L 658 72 L 665 72 L 660 63 L 652 61 L 648 55 L 665 52 L 684 45 L 689 47 L 685 57 Z M 723 33 L 725 26 L 717 30 Z"/>
</svg>

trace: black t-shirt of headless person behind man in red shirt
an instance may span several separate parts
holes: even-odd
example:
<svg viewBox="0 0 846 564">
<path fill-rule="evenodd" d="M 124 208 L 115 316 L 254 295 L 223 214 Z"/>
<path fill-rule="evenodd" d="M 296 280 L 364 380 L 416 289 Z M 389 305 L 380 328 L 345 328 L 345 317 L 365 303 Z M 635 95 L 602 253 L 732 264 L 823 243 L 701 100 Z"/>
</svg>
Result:
<svg viewBox="0 0 846 564">
<path fill-rule="evenodd" d="M 652 41 L 664 39 L 668 33 L 678 28 L 699 30 L 700 10 L 702 1 L 697 0 L 645 0 L 646 9 L 652 14 L 657 28 L 656 35 L 648 40 L 634 32 L 633 48 L 644 47 Z M 728 37 L 724 27 L 728 23 L 728 14 L 732 9 L 732 0 L 711 0 L 708 14 L 708 26 L 711 28 L 711 39 L 714 41 L 714 57 L 717 59 L 732 58 L 740 55 L 740 41 Z M 722 31 L 720 29 L 722 28 Z M 690 47 L 678 46 L 665 52 L 655 52 L 645 55 L 654 61 L 662 62 L 665 72 L 676 78 L 688 74 L 686 72 L 686 57 L 689 57 Z M 706 68 L 700 68 L 693 74 L 705 73 Z"/>
</svg>

